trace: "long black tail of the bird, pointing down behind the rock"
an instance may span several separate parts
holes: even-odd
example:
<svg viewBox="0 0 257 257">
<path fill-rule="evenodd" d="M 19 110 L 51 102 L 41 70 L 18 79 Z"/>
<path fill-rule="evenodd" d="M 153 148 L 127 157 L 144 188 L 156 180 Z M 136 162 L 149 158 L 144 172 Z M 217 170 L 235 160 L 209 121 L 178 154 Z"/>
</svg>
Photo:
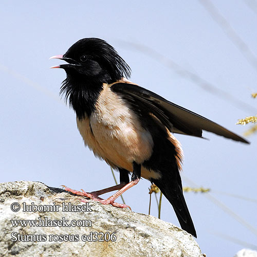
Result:
<svg viewBox="0 0 257 257">
<path fill-rule="evenodd" d="M 183 196 L 180 175 L 177 175 L 179 176 L 177 181 L 174 181 L 174 178 L 171 180 L 170 178 L 166 178 L 166 176 L 162 176 L 160 179 L 152 179 L 152 182 L 155 183 L 163 195 L 172 204 L 181 228 L 192 234 L 194 237 L 197 237 L 186 200 Z"/>
</svg>

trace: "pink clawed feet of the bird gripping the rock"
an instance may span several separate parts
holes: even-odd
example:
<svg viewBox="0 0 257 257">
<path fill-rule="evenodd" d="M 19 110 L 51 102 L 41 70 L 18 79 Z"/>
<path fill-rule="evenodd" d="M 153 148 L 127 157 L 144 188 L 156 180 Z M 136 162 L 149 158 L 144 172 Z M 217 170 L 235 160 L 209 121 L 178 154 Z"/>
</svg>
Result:
<svg viewBox="0 0 257 257">
<path fill-rule="evenodd" d="M 76 195 L 80 195 L 80 196 L 85 196 L 87 198 L 90 198 L 91 200 L 99 201 L 103 205 L 112 205 L 114 207 L 128 208 L 128 209 L 131 210 L 130 206 L 128 206 L 128 205 L 116 203 L 112 196 L 110 196 L 107 199 L 103 199 L 103 198 L 99 197 L 96 192 L 87 193 L 83 189 L 81 189 L 81 191 L 77 191 L 77 190 L 68 188 L 64 185 L 62 185 L 62 187 L 64 187 L 64 190 L 67 191 L 67 192 L 70 192 L 70 193 L 76 194 Z M 88 202 L 87 199 L 80 199 L 80 200 L 82 201 L 82 203 L 87 203 Z"/>
</svg>

